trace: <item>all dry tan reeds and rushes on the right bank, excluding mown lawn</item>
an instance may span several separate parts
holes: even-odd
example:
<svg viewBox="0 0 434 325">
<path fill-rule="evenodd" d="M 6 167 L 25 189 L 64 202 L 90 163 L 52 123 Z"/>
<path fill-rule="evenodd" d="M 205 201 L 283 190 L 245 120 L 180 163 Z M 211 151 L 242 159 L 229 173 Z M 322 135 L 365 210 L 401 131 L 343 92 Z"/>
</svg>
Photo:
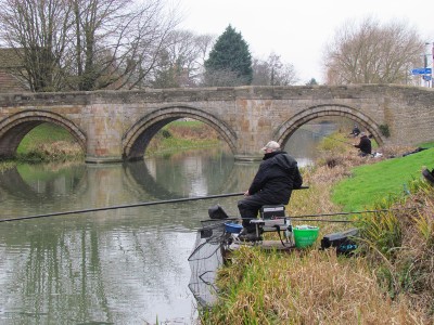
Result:
<svg viewBox="0 0 434 325">
<path fill-rule="evenodd" d="M 387 153 L 403 152 L 408 148 Z M 339 211 L 330 202 L 332 185 L 348 177 L 352 167 L 370 162 L 344 153 L 334 155 L 333 162 L 324 158 L 306 168 L 305 184 L 311 185 L 294 192 L 290 216 Z M 259 248 L 234 251 L 232 262 L 218 273 L 218 303 L 201 311 L 201 323 L 434 324 L 434 190 L 426 184 L 411 190 L 414 194 L 394 206 L 400 208 L 391 213 L 397 222 L 382 216 L 392 234 L 399 226 L 399 243 L 392 245 L 399 247 L 368 245 L 365 255 L 352 258 L 312 248 L 289 255 Z M 369 230 L 374 224 L 368 221 L 363 226 Z M 324 234 L 342 225 L 320 229 Z M 379 227 L 378 234 L 384 236 L 382 232 Z"/>
</svg>

